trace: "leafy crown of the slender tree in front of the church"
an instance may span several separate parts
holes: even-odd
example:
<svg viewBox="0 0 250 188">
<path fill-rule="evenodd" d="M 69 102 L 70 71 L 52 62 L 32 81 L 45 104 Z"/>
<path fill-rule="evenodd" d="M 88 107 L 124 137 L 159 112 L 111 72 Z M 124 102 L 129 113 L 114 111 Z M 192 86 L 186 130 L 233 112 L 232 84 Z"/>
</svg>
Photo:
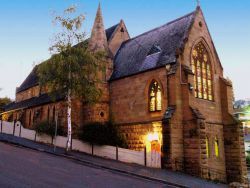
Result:
<svg viewBox="0 0 250 188">
<path fill-rule="evenodd" d="M 83 15 L 72 17 L 76 7 L 69 7 L 54 22 L 60 25 L 59 32 L 50 47 L 52 57 L 37 67 L 39 84 L 48 89 L 52 97 L 74 96 L 87 103 L 95 103 L 101 96 L 98 88 L 105 62 L 104 52 L 92 53 L 84 42 L 85 34 L 81 26 Z"/>
</svg>

